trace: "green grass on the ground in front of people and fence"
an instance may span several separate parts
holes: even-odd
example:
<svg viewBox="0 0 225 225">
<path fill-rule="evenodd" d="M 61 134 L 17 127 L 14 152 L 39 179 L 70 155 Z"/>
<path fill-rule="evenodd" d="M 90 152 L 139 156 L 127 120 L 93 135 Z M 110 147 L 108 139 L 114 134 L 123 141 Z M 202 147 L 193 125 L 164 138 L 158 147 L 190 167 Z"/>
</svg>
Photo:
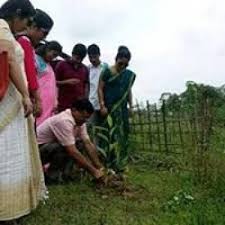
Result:
<svg viewBox="0 0 225 225">
<path fill-rule="evenodd" d="M 46 204 L 22 218 L 19 224 L 225 224 L 225 191 L 215 195 L 213 187 L 195 184 L 191 172 L 179 172 L 176 164 L 168 167 L 166 158 L 160 158 L 158 163 L 153 163 L 153 160 L 139 160 L 130 165 L 125 191 L 98 190 L 86 178 L 50 186 L 50 198 Z M 185 199 L 185 193 L 193 196 L 194 200 Z"/>
</svg>

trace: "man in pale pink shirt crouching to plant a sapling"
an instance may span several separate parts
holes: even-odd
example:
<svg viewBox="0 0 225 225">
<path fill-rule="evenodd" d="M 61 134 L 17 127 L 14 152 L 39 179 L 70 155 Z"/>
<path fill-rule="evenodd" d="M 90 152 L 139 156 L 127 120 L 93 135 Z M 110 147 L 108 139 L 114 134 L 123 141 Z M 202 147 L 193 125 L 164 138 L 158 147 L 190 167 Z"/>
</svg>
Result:
<svg viewBox="0 0 225 225">
<path fill-rule="evenodd" d="M 47 175 L 54 172 L 63 174 L 71 159 L 96 179 L 104 175 L 96 147 L 88 136 L 85 124 L 93 112 L 89 100 L 80 99 L 72 104 L 71 109 L 48 118 L 37 128 L 42 164 L 49 165 Z M 83 141 L 89 159 L 76 147 L 77 138 Z"/>
</svg>

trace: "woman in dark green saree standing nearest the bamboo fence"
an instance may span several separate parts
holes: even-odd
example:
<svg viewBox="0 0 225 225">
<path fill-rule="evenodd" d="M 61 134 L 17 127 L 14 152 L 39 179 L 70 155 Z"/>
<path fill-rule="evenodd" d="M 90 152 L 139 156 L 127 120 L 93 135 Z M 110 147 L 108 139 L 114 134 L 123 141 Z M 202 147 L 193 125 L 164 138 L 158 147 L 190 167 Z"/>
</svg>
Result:
<svg viewBox="0 0 225 225">
<path fill-rule="evenodd" d="M 129 112 L 132 108 L 131 88 L 136 75 L 127 69 L 131 53 L 125 46 L 120 46 L 116 55 L 115 65 L 103 71 L 99 81 L 99 103 L 103 118 L 112 118 L 115 128 L 114 142 L 120 145 L 120 156 L 128 155 Z M 122 156 L 123 155 L 123 156 Z M 111 160 L 114 157 L 112 156 Z"/>
</svg>

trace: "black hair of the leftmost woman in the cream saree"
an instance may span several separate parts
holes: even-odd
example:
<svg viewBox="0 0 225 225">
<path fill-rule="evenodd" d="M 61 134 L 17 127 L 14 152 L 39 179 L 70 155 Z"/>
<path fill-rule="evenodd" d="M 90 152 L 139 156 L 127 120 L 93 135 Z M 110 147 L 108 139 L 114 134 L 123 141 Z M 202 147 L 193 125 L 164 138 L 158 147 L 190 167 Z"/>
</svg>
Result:
<svg viewBox="0 0 225 225">
<path fill-rule="evenodd" d="M 35 9 L 29 0 L 8 0 L 0 8 L 0 18 L 11 20 L 15 17 L 29 18 L 35 15 Z"/>
</svg>

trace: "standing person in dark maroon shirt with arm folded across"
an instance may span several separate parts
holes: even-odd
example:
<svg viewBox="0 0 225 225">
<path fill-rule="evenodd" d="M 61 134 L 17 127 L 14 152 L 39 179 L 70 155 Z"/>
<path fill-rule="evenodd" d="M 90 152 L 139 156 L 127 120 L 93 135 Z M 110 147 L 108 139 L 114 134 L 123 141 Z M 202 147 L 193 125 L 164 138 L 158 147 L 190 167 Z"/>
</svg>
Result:
<svg viewBox="0 0 225 225">
<path fill-rule="evenodd" d="M 87 48 L 77 44 L 73 48 L 72 58 L 56 66 L 59 112 L 70 108 L 77 99 L 88 97 L 89 72 L 82 63 L 86 54 Z"/>
</svg>

